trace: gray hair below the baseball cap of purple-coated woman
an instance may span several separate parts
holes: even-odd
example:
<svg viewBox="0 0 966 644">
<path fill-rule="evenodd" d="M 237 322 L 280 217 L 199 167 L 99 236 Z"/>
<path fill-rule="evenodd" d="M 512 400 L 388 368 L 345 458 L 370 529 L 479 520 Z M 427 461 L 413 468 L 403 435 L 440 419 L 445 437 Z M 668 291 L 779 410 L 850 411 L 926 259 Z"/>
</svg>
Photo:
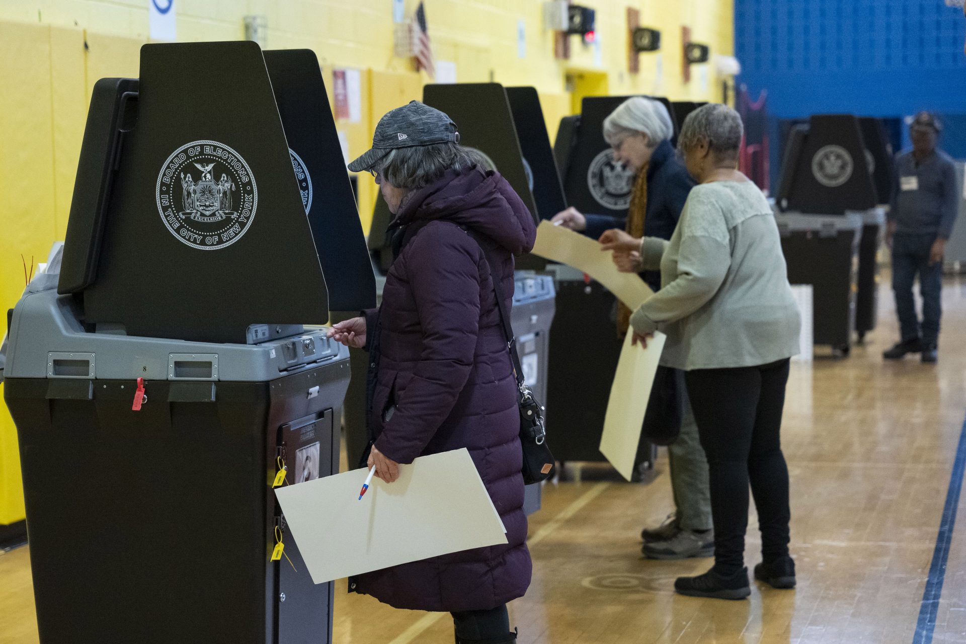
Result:
<svg viewBox="0 0 966 644">
<path fill-rule="evenodd" d="M 476 157 L 458 143 L 396 148 L 373 168 L 397 188 L 418 190 L 442 177 L 447 170 L 461 172 L 476 165 Z"/>
</svg>

